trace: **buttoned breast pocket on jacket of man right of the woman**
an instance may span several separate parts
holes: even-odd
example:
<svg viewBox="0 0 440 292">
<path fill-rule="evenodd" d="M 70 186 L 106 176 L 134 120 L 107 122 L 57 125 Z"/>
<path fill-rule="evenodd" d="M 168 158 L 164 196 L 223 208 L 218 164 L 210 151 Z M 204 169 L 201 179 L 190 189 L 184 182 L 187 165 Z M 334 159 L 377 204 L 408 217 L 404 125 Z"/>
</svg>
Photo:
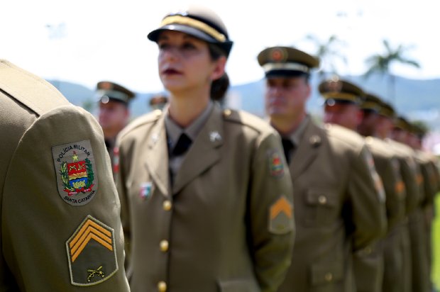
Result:
<svg viewBox="0 0 440 292">
<path fill-rule="evenodd" d="M 305 225 L 310 227 L 328 226 L 334 222 L 333 218 L 340 213 L 339 196 L 331 191 L 312 189 L 305 197 L 307 212 Z"/>
</svg>

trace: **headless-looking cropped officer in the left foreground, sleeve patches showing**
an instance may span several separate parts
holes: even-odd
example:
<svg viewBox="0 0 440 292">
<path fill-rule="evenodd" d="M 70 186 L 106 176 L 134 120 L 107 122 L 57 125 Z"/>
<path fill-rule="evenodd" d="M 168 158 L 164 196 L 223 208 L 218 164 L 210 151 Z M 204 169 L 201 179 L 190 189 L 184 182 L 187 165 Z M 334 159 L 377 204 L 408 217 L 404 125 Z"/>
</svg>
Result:
<svg viewBox="0 0 440 292">
<path fill-rule="evenodd" d="M 0 291 L 129 291 L 95 118 L 0 60 Z"/>
</svg>

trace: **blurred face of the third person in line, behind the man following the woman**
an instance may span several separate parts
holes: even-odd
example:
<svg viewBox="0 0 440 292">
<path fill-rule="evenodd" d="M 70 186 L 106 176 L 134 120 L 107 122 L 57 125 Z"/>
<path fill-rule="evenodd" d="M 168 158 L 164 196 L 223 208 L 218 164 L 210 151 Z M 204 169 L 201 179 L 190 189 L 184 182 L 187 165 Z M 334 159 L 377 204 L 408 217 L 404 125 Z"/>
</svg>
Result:
<svg viewBox="0 0 440 292">
<path fill-rule="evenodd" d="M 324 106 L 324 123 L 341 125 L 350 130 L 355 130 L 361 123 L 362 111 L 353 103 L 334 103 Z"/>
</svg>

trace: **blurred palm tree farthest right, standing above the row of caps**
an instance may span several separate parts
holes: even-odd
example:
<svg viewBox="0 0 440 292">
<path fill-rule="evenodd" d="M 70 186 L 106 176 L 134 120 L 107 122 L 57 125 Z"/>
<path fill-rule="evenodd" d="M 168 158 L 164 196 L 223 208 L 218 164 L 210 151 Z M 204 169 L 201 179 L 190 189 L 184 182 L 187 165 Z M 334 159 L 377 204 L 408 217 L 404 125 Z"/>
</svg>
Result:
<svg viewBox="0 0 440 292">
<path fill-rule="evenodd" d="M 408 64 L 412 67 L 420 68 L 420 64 L 414 60 L 409 60 L 404 57 L 405 52 L 409 50 L 410 47 L 404 47 L 399 45 L 397 48 L 393 49 L 387 40 L 383 40 L 383 45 L 385 46 L 385 53 L 375 54 L 367 58 L 365 63 L 368 64 L 370 69 L 365 72 L 364 77 L 368 78 L 373 73 L 383 74 L 389 77 L 390 83 L 388 86 L 388 94 L 392 101 L 395 99 L 395 75 L 391 72 L 391 64 L 401 63 Z"/>
</svg>

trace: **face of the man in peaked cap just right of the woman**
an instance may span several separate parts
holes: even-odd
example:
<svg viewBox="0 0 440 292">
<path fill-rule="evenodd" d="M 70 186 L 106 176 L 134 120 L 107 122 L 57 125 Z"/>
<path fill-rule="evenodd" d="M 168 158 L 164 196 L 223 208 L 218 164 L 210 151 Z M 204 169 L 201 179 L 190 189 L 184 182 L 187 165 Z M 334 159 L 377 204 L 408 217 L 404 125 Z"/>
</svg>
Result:
<svg viewBox="0 0 440 292">
<path fill-rule="evenodd" d="M 270 118 L 295 120 L 305 113 L 310 96 L 306 77 L 270 77 L 266 79 L 265 110 Z"/>
</svg>

